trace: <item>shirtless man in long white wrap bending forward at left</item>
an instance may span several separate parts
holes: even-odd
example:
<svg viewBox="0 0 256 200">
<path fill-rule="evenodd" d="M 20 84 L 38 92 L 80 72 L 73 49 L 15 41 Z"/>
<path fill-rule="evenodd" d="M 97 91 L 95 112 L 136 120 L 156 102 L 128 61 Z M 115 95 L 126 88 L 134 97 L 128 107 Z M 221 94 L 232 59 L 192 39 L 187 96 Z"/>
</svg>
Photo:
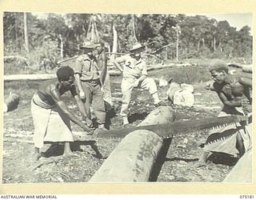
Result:
<svg viewBox="0 0 256 200">
<path fill-rule="evenodd" d="M 86 123 L 91 123 L 74 86 L 74 70 L 70 66 L 62 66 L 57 70 L 57 77 L 58 82 L 47 81 L 39 86 L 38 91 L 31 100 L 35 161 L 40 158 L 40 149 L 43 146 L 43 142 L 64 142 L 63 155 L 72 154 L 70 142 L 73 142 L 73 137 L 70 129 L 70 120 L 82 127 L 86 132 L 90 131 L 82 121 L 70 113 L 61 98 L 62 94 L 70 91 Z"/>
</svg>

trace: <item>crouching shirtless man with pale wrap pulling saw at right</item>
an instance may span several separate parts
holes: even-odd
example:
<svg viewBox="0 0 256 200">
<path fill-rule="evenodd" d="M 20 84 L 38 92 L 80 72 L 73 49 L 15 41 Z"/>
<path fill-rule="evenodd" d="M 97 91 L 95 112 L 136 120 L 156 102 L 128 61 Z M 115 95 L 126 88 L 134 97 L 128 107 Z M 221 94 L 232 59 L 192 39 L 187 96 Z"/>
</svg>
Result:
<svg viewBox="0 0 256 200">
<path fill-rule="evenodd" d="M 249 121 L 246 124 L 235 124 L 221 130 L 211 130 L 203 148 L 201 158 L 195 167 L 206 166 L 206 159 L 213 153 L 225 153 L 241 158 L 250 150 L 251 141 L 251 102 L 250 90 L 252 81 L 250 78 L 229 74 L 228 66 L 221 60 L 210 63 L 210 74 L 214 79 L 213 89 L 223 103 L 223 108 L 218 117 L 227 115 L 246 115 Z"/>
</svg>

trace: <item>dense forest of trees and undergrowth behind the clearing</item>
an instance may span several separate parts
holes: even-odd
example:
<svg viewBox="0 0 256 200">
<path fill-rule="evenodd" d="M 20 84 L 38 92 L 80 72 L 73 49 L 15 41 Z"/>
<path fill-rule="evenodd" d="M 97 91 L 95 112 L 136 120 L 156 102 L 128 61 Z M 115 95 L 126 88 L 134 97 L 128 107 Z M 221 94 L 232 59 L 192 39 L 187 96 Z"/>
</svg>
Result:
<svg viewBox="0 0 256 200">
<path fill-rule="evenodd" d="M 4 58 L 10 70 L 54 68 L 80 54 L 87 38 L 103 40 L 113 53 L 146 45 L 150 63 L 222 58 L 252 62 L 250 27 L 236 30 L 227 21 L 186 14 L 45 14 L 5 12 Z M 15 62 L 14 62 L 15 61 Z M 11 64 L 11 65 L 10 65 Z M 5 67 L 6 71 L 6 67 Z"/>
</svg>

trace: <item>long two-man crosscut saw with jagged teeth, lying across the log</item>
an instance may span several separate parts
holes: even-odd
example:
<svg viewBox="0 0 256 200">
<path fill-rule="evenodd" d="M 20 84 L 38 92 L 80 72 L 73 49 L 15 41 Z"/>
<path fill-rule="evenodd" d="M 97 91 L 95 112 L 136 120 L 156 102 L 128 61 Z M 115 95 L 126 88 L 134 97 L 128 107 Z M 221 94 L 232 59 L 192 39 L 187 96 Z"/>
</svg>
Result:
<svg viewBox="0 0 256 200">
<path fill-rule="evenodd" d="M 242 115 L 230 115 L 219 118 L 193 119 L 190 121 L 171 122 L 157 125 L 136 126 L 131 128 L 98 130 L 95 137 L 100 138 L 124 138 L 134 130 L 150 130 L 161 138 L 173 138 L 174 135 L 190 134 L 204 130 L 222 129 L 226 126 L 234 126 L 238 122 L 246 122 L 247 117 Z"/>
</svg>

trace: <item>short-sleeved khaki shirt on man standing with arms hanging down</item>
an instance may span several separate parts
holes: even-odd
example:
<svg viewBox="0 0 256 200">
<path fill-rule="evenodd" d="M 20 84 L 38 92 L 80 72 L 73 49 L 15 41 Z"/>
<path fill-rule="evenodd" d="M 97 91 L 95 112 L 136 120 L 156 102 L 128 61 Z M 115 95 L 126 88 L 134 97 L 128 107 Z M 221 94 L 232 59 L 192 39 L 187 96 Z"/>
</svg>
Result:
<svg viewBox="0 0 256 200">
<path fill-rule="evenodd" d="M 79 56 L 75 62 L 74 74 L 80 74 L 81 81 L 96 80 L 99 78 L 97 62 L 87 54 Z"/>
</svg>

